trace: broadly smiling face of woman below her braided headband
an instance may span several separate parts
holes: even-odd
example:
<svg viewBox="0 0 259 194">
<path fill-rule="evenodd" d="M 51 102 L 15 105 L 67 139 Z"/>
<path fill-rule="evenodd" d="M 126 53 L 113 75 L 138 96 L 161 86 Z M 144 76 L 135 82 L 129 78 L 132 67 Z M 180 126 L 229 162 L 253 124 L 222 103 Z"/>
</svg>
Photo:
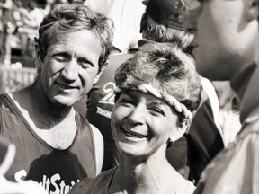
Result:
<svg viewBox="0 0 259 194">
<path fill-rule="evenodd" d="M 177 115 L 165 101 L 139 91 L 121 93 L 112 110 L 116 145 L 122 154 L 133 157 L 148 157 L 166 149 L 177 122 Z"/>
</svg>

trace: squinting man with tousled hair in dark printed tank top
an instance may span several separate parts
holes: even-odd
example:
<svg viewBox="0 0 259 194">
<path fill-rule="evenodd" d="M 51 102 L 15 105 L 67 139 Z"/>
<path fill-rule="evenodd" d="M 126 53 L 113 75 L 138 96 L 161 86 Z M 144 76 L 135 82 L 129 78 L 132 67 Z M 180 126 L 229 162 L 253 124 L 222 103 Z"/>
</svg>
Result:
<svg viewBox="0 0 259 194">
<path fill-rule="evenodd" d="M 112 21 L 82 4 L 59 4 L 40 23 L 38 77 L 0 96 L 0 132 L 16 145 L 9 181 L 67 193 L 103 163 L 103 137 L 73 105 L 98 80 L 112 49 Z"/>
</svg>

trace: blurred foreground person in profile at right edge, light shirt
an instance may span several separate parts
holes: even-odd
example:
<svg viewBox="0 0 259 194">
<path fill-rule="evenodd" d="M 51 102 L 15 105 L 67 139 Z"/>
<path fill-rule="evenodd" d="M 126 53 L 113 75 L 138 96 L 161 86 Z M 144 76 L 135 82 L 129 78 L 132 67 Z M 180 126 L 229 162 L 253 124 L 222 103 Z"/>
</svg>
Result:
<svg viewBox="0 0 259 194">
<path fill-rule="evenodd" d="M 240 101 L 241 132 L 201 175 L 196 193 L 259 193 L 258 0 L 201 1 L 197 70 L 229 80 Z"/>
</svg>

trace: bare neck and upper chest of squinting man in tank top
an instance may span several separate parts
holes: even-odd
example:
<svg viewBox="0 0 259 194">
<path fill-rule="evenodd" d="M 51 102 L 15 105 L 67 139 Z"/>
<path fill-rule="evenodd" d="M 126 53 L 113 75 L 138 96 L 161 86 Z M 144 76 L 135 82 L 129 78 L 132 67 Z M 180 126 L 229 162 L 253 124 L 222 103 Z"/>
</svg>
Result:
<svg viewBox="0 0 259 194">
<path fill-rule="evenodd" d="M 48 145 L 64 150 L 72 145 L 76 137 L 76 111 L 70 107 L 53 105 L 31 85 L 20 92 L 11 94 L 14 103 L 31 129 Z"/>
</svg>

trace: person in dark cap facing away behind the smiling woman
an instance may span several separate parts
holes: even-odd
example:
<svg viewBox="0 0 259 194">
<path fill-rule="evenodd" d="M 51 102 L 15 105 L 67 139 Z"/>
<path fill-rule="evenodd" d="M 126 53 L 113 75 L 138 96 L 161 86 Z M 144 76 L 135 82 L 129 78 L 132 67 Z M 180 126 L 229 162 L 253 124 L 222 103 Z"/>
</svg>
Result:
<svg viewBox="0 0 259 194">
<path fill-rule="evenodd" d="M 171 0 L 149 0 L 145 1 L 147 9 L 141 19 L 141 32 L 143 40 L 138 41 L 138 46 L 148 42 L 174 42 L 178 47 L 186 49 L 192 42 L 192 35 L 183 31 L 184 22 L 188 17 L 188 9 L 183 1 Z M 112 55 L 109 58 L 109 65 L 103 71 L 103 75 L 88 95 L 86 117 L 89 121 L 100 129 L 104 138 L 104 162 L 103 170 L 108 170 L 118 164 L 118 154 L 114 145 L 110 124 L 110 116 L 113 107 L 115 87 L 113 76 L 116 68 L 132 57 L 136 49 L 129 49 L 127 53 Z M 219 114 L 219 104 L 217 107 L 216 93 L 206 79 L 201 78 L 206 92 L 201 94 L 201 107 L 195 113 L 189 135 L 171 144 L 167 149 L 167 159 L 178 172 L 188 177 L 191 181 L 200 179 L 201 171 L 210 162 L 220 149 L 224 147 L 219 129 L 215 124 L 217 120 L 217 108 Z M 208 92 L 210 89 L 210 92 Z M 208 93 L 210 96 L 208 97 Z M 214 95 L 213 95 L 214 94 Z M 211 99 L 215 98 L 215 99 Z M 215 104 L 211 104 L 216 102 Z M 211 108 L 211 106 L 213 108 Z M 216 107 L 216 111 L 215 110 Z M 187 140 L 192 145 L 189 146 L 191 153 L 188 153 Z M 191 154 L 191 173 L 188 173 L 187 154 Z M 190 163 L 190 164 L 189 164 Z"/>
</svg>

